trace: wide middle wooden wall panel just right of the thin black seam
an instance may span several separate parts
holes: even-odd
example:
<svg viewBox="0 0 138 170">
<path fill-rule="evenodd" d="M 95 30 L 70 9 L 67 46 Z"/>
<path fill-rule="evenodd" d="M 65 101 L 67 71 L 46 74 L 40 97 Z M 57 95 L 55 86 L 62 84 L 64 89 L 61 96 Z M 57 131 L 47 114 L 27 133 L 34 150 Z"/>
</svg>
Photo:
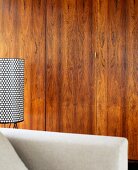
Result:
<svg viewBox="0 0 138 170">
<path fill-rule="evenodd" d="M 91 133 L 95 126 L 91 7 L 89 0 L 47 1 L 47 130 Z"/>
</svg>

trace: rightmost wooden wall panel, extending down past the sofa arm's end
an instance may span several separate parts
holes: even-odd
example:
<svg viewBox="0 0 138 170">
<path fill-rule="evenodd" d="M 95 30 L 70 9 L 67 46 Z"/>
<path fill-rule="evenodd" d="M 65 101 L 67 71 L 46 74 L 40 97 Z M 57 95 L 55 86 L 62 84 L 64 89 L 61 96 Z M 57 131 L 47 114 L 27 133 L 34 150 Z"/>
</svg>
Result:
<svg viewBox="0 0 138 170">
<path fill-rule="evenodd" d="M 126 133 L 129 159 L 138 160 L 138 1 L 127 0 Z"/>
</svg>

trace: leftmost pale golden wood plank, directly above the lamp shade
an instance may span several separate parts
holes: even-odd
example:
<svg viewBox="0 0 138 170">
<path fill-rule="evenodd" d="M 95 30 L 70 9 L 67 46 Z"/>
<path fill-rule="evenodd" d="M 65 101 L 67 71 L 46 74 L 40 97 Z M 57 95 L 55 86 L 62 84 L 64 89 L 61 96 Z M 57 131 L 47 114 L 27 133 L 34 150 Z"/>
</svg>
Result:
<svg viewBox="0 0 138 170">
<path fill-rule="evenodd" d="M 0 1 L 0 58 L 18 56 L 17 2 Z M 19 57 L 19 56 L 18 56 Z M 9 125 L 0 125 L 9 127 Z"/>
</svg>

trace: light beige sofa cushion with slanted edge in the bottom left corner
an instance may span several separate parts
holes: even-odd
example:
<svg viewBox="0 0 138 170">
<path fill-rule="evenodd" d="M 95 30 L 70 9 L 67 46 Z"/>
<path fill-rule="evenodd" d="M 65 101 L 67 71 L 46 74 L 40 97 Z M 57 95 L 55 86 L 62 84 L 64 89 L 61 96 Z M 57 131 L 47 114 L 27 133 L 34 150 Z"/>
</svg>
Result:
<svg viewBox="0 0 138 170">
<path fill-rule="evenodd" d="M 0 169 L 27 170 L 8 139 L 0 133 Z"/>
</svg>

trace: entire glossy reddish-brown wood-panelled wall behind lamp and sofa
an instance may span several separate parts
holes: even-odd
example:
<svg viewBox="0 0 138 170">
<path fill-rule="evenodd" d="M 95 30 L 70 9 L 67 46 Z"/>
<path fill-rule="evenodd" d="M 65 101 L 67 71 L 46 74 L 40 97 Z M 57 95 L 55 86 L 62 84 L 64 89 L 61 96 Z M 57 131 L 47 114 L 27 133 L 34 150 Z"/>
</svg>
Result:
<svg viewBox="0 0 138 170">
<path fill-rule="evenodd" d="M 0 57 L 25 59 L 20 128 L 124 136 L 138 160 L 137 0 L 0 0 Z"/>
</svg>

